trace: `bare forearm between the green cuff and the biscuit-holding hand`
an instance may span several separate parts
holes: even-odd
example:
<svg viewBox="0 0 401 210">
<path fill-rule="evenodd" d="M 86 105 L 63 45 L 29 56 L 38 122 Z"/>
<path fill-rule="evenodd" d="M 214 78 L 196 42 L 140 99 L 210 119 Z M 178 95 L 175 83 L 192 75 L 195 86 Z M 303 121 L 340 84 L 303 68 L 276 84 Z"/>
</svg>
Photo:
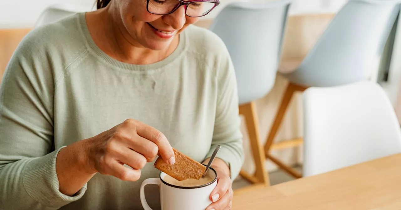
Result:
<svg viewBox="0 0 401 210">
<path fill-rule="evenodd" d="M 88 166 L 85 151 L 87 140 L 75 142 L 59 151 L 56 159 L 56 172 L 60 192 L 73 196 L 95 174 Z"/>
</svg>

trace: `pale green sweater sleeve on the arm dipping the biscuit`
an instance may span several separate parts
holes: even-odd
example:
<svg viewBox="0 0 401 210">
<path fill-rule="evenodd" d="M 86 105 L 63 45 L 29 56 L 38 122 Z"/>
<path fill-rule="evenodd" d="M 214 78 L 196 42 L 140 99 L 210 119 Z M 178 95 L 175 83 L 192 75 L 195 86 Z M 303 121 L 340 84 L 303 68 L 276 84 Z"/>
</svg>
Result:
<svg viewBox="0 0 401 210">
<path fill-rule="evenodd" d="M 86 190 L 85 185 L 74 196 L 59 191 L 53 64 L 45 46 L 35 44 L 41 41 L 22 41 L 1 83 L 0 209 L 57 209 Z"/>
</svg>

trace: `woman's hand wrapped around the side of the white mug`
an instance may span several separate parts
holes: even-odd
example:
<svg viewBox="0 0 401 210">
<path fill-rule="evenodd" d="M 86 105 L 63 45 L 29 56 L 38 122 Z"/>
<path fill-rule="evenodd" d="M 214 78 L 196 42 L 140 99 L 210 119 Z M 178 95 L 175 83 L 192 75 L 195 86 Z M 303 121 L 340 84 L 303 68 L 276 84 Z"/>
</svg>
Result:
<svg viewBox="0 0 401 210">
<path fill-rule="evenodd" d="M 222 166 L 227 167 L 227 165 Z M 210 195 L 210 200 L 213 202 L 206 210 L 230 210 L 233 204 L 233 188 L 230 174 L 227 169 L 220 166 L 212 166 L 217 172 L 217 186 Z M 229 169 L 228 169 L 229 172 Z"/>
</svg>

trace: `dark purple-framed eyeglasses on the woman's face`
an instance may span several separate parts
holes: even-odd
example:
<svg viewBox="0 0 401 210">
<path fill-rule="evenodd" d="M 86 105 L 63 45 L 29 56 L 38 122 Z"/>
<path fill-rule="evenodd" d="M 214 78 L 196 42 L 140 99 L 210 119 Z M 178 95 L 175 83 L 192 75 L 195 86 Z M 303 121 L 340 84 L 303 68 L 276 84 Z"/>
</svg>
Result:
<svg viewBox="0 0 401 210">
<path fill-rule="evenodd" d="M 180 6 L 184 5 L 187 16 L 198 18 L 207 15 L 217 5 L 219 0 L 147 0 L 148 12 L 158 15 L 171 14 Z"/>
</svg>

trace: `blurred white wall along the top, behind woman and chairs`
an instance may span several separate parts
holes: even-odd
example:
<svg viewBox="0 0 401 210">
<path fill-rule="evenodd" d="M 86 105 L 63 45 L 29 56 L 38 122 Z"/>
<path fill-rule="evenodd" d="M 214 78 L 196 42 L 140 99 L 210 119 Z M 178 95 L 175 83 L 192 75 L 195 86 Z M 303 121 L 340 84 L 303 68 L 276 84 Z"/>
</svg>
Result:
<svg viewBox="0 0 401 210">
<path fill-rule="evenodd" d="M 205 16 L 205 18 L 213 18 L 221 8 L 233 1 L 240 0 L 220 0 L 220 6 L 209 15 Z M 346 1 L 347 0 L 294 0 L 290 13 L 336 12 Z M 63 2 L 80 4 L 87 8 L 87 10 L 91 10 L 95 4 L 95 0 L 0 0 L 0 28 L 30 28 L 46 7 Z"/>
</svg>

